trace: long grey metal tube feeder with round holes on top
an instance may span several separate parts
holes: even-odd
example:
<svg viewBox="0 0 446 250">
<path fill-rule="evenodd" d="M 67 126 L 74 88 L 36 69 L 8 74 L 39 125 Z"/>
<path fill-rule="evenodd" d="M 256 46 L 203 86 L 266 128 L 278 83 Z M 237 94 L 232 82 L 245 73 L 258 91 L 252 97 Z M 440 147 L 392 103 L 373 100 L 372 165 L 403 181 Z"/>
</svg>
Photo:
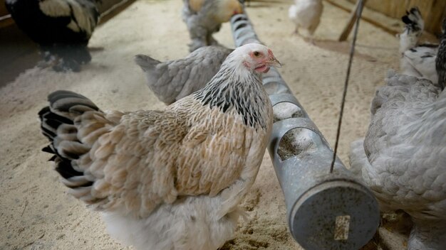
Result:
<svg viewBox="0 0 446 250">
<path fill-rule="evenodd" d="M 231 19 L 238 47 L 260 43 L 246 14 Z M 274 107 L 269 155 L 284 192 L 294 239 L 308 250 L 359 249 L 378 229 L 379 207 L 372 192 L 337 158 L 276 68 L 264 75 Z"/>
</svg>

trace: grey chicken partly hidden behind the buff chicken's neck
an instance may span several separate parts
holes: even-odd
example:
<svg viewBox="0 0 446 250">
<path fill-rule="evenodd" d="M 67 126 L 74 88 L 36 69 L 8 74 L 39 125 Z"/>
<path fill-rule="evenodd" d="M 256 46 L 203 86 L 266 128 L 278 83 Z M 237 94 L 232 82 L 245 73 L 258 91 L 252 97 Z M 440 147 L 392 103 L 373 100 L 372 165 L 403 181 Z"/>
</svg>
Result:
<svg viewBox="0 0 446 250">
<path fill-rule="evenodd" d="M 169 105 L 204 87 L 217 74 L 232 49 L 212 45 L 198 48 L 186 58 L 160 62 L 147 55 L 136 55 L 147 77 L 147 85 Z"/>
</svg>

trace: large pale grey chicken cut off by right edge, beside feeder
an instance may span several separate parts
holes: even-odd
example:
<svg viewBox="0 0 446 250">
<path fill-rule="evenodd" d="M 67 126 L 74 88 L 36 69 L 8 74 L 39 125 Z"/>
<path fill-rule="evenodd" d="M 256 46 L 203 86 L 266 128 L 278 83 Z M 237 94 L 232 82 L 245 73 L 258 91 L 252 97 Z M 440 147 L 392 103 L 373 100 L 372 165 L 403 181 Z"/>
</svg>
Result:
<svg viewBox="0 0 446 250">
<path fill-rule="evenodd" d="M 446 92 L 395 72 L 386 82 L 365 139 L 351 144 L 351 168 L 383 212 L 410 214 L 409 250 L 446 249 Z"/>
</svg>

